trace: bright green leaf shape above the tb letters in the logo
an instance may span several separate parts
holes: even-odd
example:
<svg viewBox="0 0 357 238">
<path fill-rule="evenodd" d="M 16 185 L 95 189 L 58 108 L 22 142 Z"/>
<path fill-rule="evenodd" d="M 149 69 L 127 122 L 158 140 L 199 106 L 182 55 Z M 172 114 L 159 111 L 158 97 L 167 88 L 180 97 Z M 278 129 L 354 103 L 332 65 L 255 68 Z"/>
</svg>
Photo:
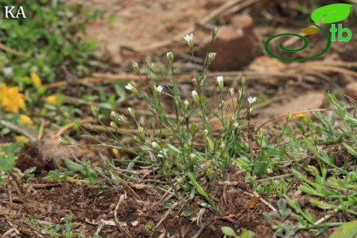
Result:
<svg viewBox="0 0 357 238">
<path fill-rule="evenodd" d="M 346 3 L 325 5 L 314 10 L 311 14 L 311 19 L 317 24 L 320 23 L 321 19 L 323 19 L 322 23 L 336 23 L 347 19 L 349 8 L 352 8 L 353 6 L 354 5 Z"/>
</svg>

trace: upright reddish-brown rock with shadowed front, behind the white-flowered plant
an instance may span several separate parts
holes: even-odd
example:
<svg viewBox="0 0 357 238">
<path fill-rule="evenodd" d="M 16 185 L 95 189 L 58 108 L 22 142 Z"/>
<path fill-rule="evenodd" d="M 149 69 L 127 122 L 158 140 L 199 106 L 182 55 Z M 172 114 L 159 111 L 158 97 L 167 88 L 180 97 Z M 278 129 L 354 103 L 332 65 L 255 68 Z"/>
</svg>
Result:
<svg viewBox="0 0 357 238">
<path fill-rule="evenodd" d="M 211 41 L 204 43 L 198 51 L 205 58 Z M 211 52 L 216 59 L 209 69 L 214 71 L 235 71 L 248 65 L 256 56 L 257 43 L 253 33 L 253 19 L 248 14 L 233 16 L 229 25 L 220 27 L 214 39 Z"/>
</svg>

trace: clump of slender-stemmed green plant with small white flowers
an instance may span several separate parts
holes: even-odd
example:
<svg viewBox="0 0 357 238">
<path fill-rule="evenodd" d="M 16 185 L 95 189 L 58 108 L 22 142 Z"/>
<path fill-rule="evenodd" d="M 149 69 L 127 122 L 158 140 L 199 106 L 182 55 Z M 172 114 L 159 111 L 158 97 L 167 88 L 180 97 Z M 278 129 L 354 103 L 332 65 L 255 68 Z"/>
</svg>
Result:
<svg viewBox="0 0 357 238">
<path fill-rule="evenodd" d="M 217 31 L 216 28 L 213 30 L 212 41 Z M 195 62 L 193 34 L 184 38 Z M 145 85 L 146 90 L 143 91 L 136 82 L 130 82 L 125 86 L 128 91 L 148 103 L 148 110 L 152 113 L 152 128 L 144 128 L 141 125 L 137 120 L 135 108 L 128 108 L 128 118 L 124 115 L 118 115 L 116 112 L 111 112 L 111 123 L 105 125 L 99 116 L 98 109 L 90 104 L 92 115 L 102 126 L 107 128 L 110 135 L 108 139 L 112 142 L 112 145 L 110 145 L 98 141 L 97 146 L 113 147 L 115 150 L 128 150 L 130 153 L 136 154 L 139 156 L 139 160 L 136 160 L 135 163 L 137 165 L 140 165 L 140 163 L 150 165 L 157 176 L 165 178 L 177 198 L 183 198 L 183 194 L 176 190 L 176 185 L 181 185 L 184 193 L 191 193 L 191 189 L 194 188 L 198 194 L 209 202 L 211 208 L 219 213 L 216 205 L 197 180 L 203 176 L 212 180 L 215 174 L 223 178 L 229 165 L 236 161 L 235 158 L 238 155 L 246 155 L 249 158 L 245 167 L 251 171 L 254 160 L 248 153 L 249 145 L 242 139 L 242 134 L 251 130 L 247 129 L 249 121 L 247 122 L 246 119 L 249 119 L 251 105 L 256 101 L 256 98 L 244 99 L 245 78 L 242 78 L 241 81 L 242 88 L 238 90 L 238 93 L 235 93 L 233 88 L 224 89 L 224 78 L 217 76 L 214 94 L 218 93 L 220 103 L 218 110 L 214 110 L 213 104 L 207 102 L 205 86 L 208 80 L 207 71 L 211 62 L 216 58 L 216 53 L 208 52 L 203 71 L 199 72 L 197 67 L 195 69 L 196 78 L 192 80 L 194 91 L 192 91 L 191 102 L 187 99 L 183 101 L 176 82 L 174 53 L 168 52 L 167 58 L 172 73 L 168 80 L 161 76 L 154 62 L 147 61 L 150 82 L 146 82 L 143 80 L 139 65 L 134 62 L 134 71 Z M 154 81 L 153 78 L 159 80 Z M 231 97 L 229 104 L 223 101 L 223 94 L 226 90 Z M 161 103 L 163 95 L 172 100 L 174 118 L 170 117 L 169 112 L 166 112 L 163 108 Z M 233 108 L 233 115 L 227 118 L 229 107 Z M 200 121 L 192 121 L 191 118 L 194 114 L 198 115 Z M 67 118 L 71 118 L 68 113 L 65 115 Z M 217 117 L 221 124 L 217 133 L 210 123 L 214 117 Z M 108 130 L 108 126 L 113 128 L 115 132 Z M 132 133 L 124 132 L 122 127 L 129 128 Z M 89 126 L 89 128 L 93 132 L 96 131 L 93 126 Z M 152 130 L 152 133 L 149 133 L 150 130 Z M 126 147 L 117 136 L 117 132 L 129 136 L 141 148 L 141 152 L 133 152 L 132 149 Z M 90 132 L 87 132 L 86 136 L 94 138 Z M 60 143 L 63 145 L 71 144 L 62 139 Z M 150 159 L 148 155 L 150 155 Z M 187 184 L 191 186 L 187 187 Z"/>
</svg>

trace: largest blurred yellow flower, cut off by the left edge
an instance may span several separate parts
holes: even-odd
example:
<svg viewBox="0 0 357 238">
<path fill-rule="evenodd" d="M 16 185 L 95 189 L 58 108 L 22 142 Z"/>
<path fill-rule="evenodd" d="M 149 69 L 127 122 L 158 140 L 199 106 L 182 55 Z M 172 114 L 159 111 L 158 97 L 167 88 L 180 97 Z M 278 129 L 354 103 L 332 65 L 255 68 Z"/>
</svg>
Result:
<svg viewBox="0 0 357 238">
<path fill-rule="evenodd" d="M 19 112 L 20 108 L 25 108 L 25 95 L 19 93 L 18 86 L 8 87 L 6 84 L 1 84 L 0 105 L 7 112 Z"/>
</svg>

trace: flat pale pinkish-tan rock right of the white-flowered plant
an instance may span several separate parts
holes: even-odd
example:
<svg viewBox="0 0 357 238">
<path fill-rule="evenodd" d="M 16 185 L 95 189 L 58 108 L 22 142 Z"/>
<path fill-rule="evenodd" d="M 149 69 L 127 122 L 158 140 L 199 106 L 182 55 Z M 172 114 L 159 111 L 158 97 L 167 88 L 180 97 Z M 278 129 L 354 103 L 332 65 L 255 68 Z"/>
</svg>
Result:
<svg viewBox="0 0 357 238">
<path fill-rule="evenodd" d="M 309 92 L 295 99 L 292 99 L 290 102 L 286 102 L 281 105 L 279 110 L 275 113 L 275 117 L 281 115 L 288 115 L 289 112 L 301 112 L 303 110 L 311 109 L 319 109 L 323 108 L 326 104 L 325 93 L 318 92 Z M 310 117 L 310 113 L 303 113 L 306 117 Z M 297 117 L 292 117 L 292 119 L 296 119 Z M 279 121 L 285 121 L 286 118 L 280 119 Z"/>
</svg>

